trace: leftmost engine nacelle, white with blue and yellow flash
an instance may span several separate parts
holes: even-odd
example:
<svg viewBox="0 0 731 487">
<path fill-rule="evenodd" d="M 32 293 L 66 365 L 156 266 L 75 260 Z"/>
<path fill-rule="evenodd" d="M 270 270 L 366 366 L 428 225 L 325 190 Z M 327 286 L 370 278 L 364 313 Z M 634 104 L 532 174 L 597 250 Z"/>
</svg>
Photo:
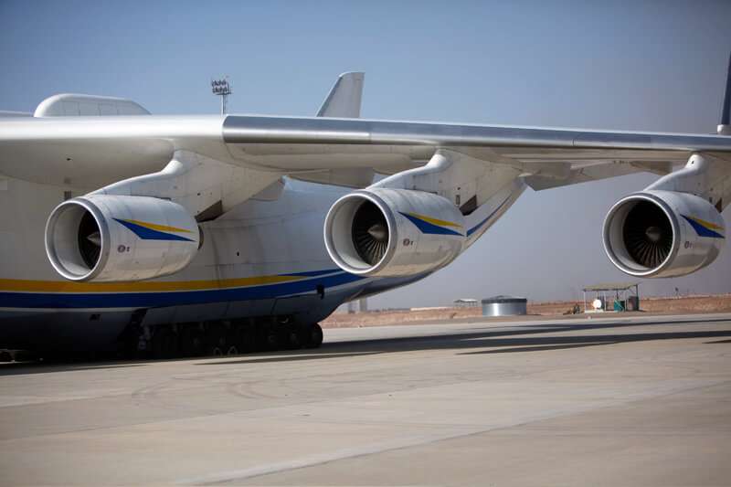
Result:
<svg viewBox="0 0 731 487">
<path fill-rule="evenodd" d="M 198 250 L 196 220 L 183 206 L 147 196 L 81 196 L 46 224 L 46 253 L 70 281 L 142 281 L 185 268 Z"/>
</svg>

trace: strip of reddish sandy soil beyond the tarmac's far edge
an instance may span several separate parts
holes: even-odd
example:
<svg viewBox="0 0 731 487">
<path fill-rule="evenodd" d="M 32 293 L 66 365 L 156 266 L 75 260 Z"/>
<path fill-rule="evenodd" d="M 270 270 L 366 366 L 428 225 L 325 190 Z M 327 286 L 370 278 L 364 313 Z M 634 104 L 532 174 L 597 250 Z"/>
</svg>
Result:
<svg viewBox="0 0 731 487">
<path fill-rule="evenodd" d="M 575 304 L 583 302 L 528 302 L 528 315 L 534 317 L 563 316 Z M 652 314 L 683 314 L 703 312 L 731 312 L 731 294 L 715 296 L 687 296 L 681 298 L 642 298 L 641 312 Z M 418 324 L 445 322 L 478 317 L 481 308 L 431 308 L 413 311 L 376 311 L 335 313 L 321 324 L 325 328 L 349 328 L 356 326 L 379 326 L 386 324 Z M 577 314 L 584 317 L 585 314 Z M 525 316 L 519 317 L 525 319 Z M 499 318 L 504 321 L 505 318 Z"/>
</svg>

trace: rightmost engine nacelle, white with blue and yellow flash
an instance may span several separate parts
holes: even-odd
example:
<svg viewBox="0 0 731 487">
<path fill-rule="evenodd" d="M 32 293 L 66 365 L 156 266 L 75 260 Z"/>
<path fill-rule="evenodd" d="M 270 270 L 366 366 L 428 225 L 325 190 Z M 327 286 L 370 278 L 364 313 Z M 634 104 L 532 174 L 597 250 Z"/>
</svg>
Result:
<svg viewBox="0 0 731 487">
<path fill-rule="evenodd" d="M 604 220 L 604 249 L 637 277 L 673 277 L 703 269 L 724 245 L 721 214 L 702 197 L 650 190 L 626 196 Z"/>
</svg>

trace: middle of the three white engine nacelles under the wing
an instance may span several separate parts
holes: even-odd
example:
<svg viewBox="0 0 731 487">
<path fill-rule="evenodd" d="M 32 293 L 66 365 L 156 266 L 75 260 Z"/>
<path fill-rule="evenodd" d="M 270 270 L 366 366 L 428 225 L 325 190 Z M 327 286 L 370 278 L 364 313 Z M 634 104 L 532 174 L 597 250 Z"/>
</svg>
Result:
<svg viewBox="0 0 731 487">
<path fill-rule="evenodd" d="M 450 200 L 408 189 L 370 188 L 338 199 L 325 217 L 325 246 L 341 269 L 365 276 L 437 270 L 464 247 L 464 217 Z"/>
</svg>

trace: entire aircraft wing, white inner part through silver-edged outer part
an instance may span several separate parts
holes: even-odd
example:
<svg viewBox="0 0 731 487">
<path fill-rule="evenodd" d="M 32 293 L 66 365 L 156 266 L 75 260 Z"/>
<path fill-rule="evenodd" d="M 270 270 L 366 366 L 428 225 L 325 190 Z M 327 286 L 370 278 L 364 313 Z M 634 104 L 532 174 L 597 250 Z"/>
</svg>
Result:
<svg viewBox="0 0 731 487">
<path fill-rule="evenodd" d="M 364 185 L 360 170 L 393 174 L 438 148 L 520 168 L 536 188 L 666 174 L 694 152 L 731 159 L 724 135 L 256 115 L 0 120 L 0 174 L 89 188 L 158 171 L 179 150 L 281 175 L 337 169 L 344 176 L 334 184 Z"/>
</svg>

